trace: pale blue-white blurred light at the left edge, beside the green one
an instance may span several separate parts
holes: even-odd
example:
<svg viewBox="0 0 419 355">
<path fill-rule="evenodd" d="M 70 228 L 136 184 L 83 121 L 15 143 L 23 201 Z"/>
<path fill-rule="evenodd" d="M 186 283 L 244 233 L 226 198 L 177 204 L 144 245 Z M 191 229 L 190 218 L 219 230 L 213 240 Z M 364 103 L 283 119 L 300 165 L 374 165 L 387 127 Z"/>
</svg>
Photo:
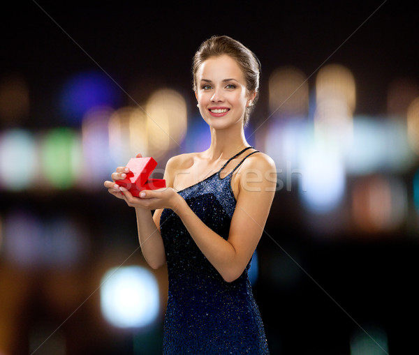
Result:
<svg viewBox="0 0 419 355">
<path fill-rule="evenodd" d="M 26 130 L 8 130 L 0 135 L 0 183 L 7 190 L 28 188 L 36 178 L 34 137 Z"/>
</svg>

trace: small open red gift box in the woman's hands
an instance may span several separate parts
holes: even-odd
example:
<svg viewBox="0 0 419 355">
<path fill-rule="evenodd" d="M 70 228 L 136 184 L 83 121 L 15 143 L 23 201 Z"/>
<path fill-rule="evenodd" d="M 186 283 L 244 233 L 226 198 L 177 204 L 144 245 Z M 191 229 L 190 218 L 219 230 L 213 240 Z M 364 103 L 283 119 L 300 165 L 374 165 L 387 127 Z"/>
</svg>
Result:
<svg viewBox="0 0 419 355">
<path fill-rule="evenodd" d="M 129 169 L 126 178 L 116 182 L 119 186 L 129 190 L 135 197 L 138 197 L 142 190 L 166 188 L 166 181 L 164 179 L 149 179 L 150 174 L 152 174 L 156 166 L 156 160 L 151 157 L 131 158 L 126 165 Z"/>
</svg>

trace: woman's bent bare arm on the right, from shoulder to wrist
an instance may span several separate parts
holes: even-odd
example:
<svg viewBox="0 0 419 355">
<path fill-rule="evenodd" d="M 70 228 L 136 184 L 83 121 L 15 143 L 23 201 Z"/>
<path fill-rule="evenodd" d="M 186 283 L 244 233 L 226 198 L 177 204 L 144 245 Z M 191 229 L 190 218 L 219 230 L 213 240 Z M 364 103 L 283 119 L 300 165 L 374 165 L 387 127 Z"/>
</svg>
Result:
<svg viewBox="0 0 419 355">
<path fill-rule="evenodd" d="M 249 263 L 263 234 L 277 186 L 271 158 L 260 153 L 244 163 L 237 176 L 239 193 L 227 240 L 207 227 L 184 199 L 177 209 L 198 248 L 227 282 L 236 280 Z"/>
</svg>

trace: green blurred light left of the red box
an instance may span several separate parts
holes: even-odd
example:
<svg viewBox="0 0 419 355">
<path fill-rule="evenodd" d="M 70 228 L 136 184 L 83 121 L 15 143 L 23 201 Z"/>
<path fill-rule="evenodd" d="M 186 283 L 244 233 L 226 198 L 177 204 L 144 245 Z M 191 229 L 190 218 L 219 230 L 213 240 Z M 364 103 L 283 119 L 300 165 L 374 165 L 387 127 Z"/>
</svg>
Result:
<svg viewBox="0 0 419 355">
<path fill-rule="evenodd" d="M 54 188 L 71 188 L 81 175 L 82 149 L 79 134 L 70 128 L 54 128 L 41 142 L 41 172 Z"/>
</svg>

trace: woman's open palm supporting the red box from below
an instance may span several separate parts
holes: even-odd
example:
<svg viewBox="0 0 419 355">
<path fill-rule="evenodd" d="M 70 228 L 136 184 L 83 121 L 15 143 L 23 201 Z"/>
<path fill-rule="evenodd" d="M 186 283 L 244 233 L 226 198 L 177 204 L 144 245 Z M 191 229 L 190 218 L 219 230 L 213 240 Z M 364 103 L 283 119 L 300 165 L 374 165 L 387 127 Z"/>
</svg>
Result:
<svg viewBox="0 0 419 355">
<path fill-rule="evenodd" d="M 140 209 L 172 209 L 177 211 L 184 199 L 173 188 L 160 188 L 158 190 L 142 190 L 140 197 L 134 197 L 126 188 L 120 188 L 122 198 L 130 207 Z M 112 192 L 111 192 L 112 193 Z"/>
</svg>

